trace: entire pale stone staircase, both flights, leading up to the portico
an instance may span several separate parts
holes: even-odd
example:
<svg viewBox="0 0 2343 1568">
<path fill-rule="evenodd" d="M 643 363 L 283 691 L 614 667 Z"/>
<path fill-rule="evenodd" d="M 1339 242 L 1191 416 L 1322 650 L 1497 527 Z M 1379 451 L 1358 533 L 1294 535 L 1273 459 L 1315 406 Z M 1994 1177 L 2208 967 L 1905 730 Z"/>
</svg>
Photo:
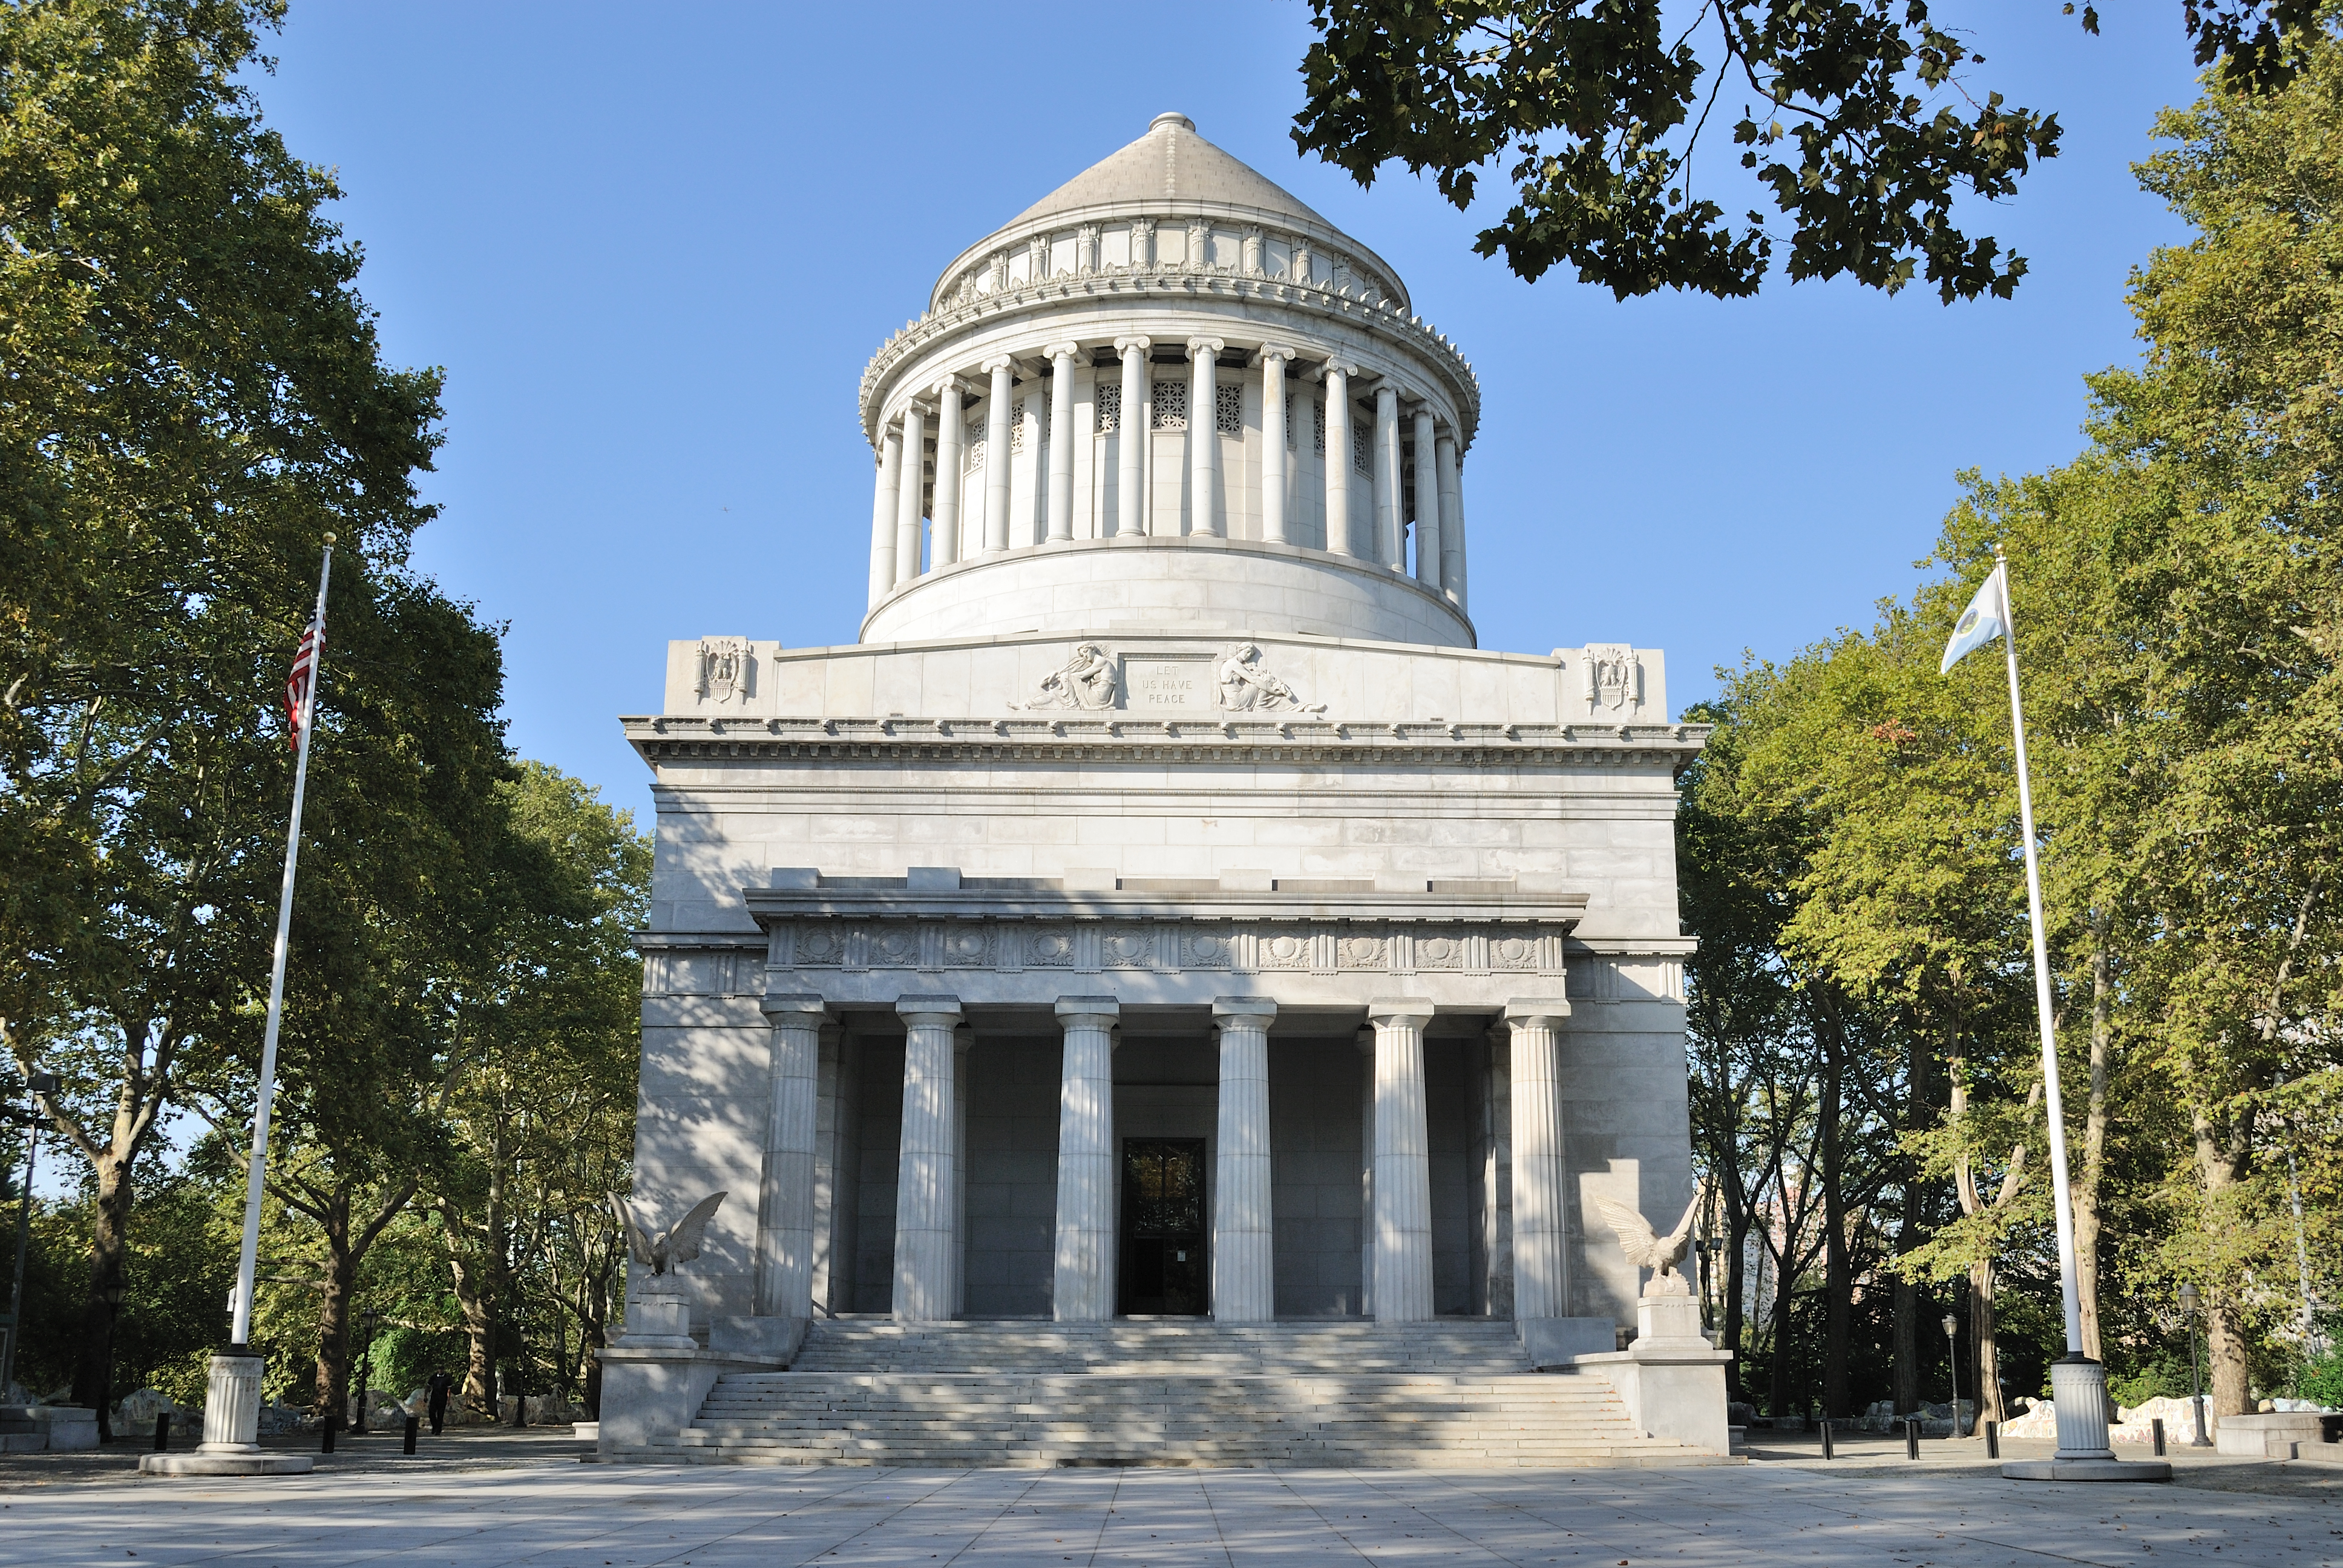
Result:
<svg viewBox="0 0 2343 1568">
<path fill-rule="evenodd" d="M 609 1458 L 750 1465 L 1715 1465 L 1610 1380 L 1539 1376 L 1507 1322 L 813 1324 L 677 1439 Z"/>
</svg>

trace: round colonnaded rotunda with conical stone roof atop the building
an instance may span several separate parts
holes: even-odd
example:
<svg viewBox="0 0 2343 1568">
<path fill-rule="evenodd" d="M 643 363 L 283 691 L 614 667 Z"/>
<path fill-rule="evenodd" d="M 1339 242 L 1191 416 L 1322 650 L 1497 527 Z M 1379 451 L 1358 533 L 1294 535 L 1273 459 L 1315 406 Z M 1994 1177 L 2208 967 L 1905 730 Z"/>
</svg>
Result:
<svg viewBox="0 0 2343 1568">
<path fill-rule="evenodd" d="M 860 403 L 865 642 L 1474 645 L 1471 366 L 1382 258 L 1186 115 L 954 258 Z"/>
</svg>

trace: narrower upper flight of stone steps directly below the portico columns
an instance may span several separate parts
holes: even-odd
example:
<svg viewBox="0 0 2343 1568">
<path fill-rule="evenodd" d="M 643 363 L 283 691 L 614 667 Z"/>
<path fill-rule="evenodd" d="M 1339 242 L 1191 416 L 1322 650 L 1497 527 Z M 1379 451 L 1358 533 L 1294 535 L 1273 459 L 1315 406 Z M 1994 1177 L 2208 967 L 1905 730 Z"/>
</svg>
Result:
<svg viewBox="0 0 2343 1568">
<path fill-rule="evenodd" d="M 792 1371 L 1218 1371 L 1244 1373 L 1518 1373 L 1514 1324 L 1492 1320 L 1275 1322 L 963 1320 L 902 1324 L 834 1317 L 813 1324 Z"/>
</svg>

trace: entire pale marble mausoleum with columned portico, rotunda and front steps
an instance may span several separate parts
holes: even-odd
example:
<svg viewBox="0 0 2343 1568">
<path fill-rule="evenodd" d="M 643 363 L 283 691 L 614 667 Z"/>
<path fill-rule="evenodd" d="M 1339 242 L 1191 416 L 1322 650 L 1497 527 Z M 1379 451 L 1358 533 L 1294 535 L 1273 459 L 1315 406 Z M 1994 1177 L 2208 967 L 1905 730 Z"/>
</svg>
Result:
<svg viewBox="0 0 2343 1568">
<path fill-rule="evenodd" d="M 672 642 L 623 720 L 635 1207 L 729 1198 L 633 1270 L 602 1451 L 1720 1453 L 1596 1214 L 1692 1193 L 1706 731 L 1657 649 L 1476 645 L 1481 389 L 1396 272 L 1160 115 L 860 410 L 860 642 Z"/>
</svg>

